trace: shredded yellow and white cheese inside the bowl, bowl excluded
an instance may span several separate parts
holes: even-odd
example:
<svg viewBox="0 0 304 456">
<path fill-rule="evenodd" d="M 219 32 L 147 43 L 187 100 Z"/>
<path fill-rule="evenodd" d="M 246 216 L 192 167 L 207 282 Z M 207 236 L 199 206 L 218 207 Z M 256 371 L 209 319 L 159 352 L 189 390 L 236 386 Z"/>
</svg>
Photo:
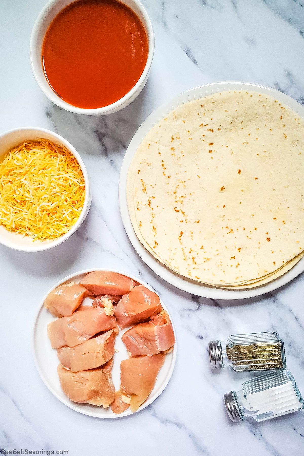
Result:
<svg viewBox="0 0 304 456">
<path fill-rule="evenodd" d="M 76 158 L 51 141 L 26 141 L 0 164 L 0 223 L 9 231 L 58 238 L 76 223 L 84 197 Z"/>
</svg>

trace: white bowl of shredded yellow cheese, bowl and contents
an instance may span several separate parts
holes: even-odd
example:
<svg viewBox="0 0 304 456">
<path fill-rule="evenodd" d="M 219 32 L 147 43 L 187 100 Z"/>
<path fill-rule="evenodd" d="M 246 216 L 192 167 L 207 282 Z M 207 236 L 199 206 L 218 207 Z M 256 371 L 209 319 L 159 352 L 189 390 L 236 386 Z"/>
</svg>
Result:
<svg viewBox="0 0 304 456">
<path fill-rule="evenodd" d="M 61 244 L 88 214 L 88 173 L 74 147 L 42 128 L 0 135 L 0 243 L 36 252 Z"/>
</svg>

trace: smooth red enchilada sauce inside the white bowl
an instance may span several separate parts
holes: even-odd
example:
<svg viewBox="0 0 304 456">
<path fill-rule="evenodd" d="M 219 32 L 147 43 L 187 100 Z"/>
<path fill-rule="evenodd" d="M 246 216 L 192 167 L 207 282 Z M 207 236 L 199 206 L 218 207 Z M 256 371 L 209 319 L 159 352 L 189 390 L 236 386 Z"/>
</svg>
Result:
<svg viewBox="0 0 304 456">
<path fill-rule="evenodd" d="M 42 63 L 64 101 L 78 108 L 108 106 L 139 80 L 148 40 L 136 14 L 117 0 L 77 0 L 46 31 Z"/>
</svg>

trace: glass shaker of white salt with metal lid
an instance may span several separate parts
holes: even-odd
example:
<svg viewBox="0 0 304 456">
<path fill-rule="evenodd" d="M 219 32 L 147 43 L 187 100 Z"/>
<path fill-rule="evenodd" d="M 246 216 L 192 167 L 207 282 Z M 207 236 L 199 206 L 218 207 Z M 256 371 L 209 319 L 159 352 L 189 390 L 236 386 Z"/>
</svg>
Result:
<svg viewBox="0 0 304 456">
<path fill-rule="evenodd" d="M 233 422 L 247 417 L 263 421 L 304 408 L 304 400 L 289 370 L 247 380 L 240 391 L 225 394 L 224 403 Z"/>
</svg>

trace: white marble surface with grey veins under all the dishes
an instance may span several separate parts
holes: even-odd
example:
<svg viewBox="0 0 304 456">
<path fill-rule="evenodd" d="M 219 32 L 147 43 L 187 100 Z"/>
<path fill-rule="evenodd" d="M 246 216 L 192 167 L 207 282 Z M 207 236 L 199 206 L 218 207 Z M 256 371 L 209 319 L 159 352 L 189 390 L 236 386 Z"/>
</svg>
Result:
<svg viewBox="0 0 304 456">
<path fill-rule="evenodd" d="M 72 456 L 303 456 L 304 412 L 233 424 L 222 396 L 247 374 L 211 372 L 208 341 L 277 331 L 304 393 L 304 275 L 245 301 L 212 301 L 168 285 L 132 248 L 119 215 L 119 169 L 141 122 L 158 105 L 198 85 L 243 80 L 278 88 L 304 104 L 301 0 L 144 0 L 155 30 L 146 87 L 129 107 L 105 117 L 52 105 L 31 74 L 29 38 L 45 0 L 0 0 L 0 131 L 46 127 L 82 155 L 93 204 L 65 244 L 42 253 L 0 246 L 0 448 L 68 450 Z M 46 291 L 74 271 L 109 267 L 141 276 L 162 296 L 178 337 L 175 371 L 144 411 L 118 420 L 80 415 L 46 389 L 31 354 L 31 326 Z"/>
</svg>

